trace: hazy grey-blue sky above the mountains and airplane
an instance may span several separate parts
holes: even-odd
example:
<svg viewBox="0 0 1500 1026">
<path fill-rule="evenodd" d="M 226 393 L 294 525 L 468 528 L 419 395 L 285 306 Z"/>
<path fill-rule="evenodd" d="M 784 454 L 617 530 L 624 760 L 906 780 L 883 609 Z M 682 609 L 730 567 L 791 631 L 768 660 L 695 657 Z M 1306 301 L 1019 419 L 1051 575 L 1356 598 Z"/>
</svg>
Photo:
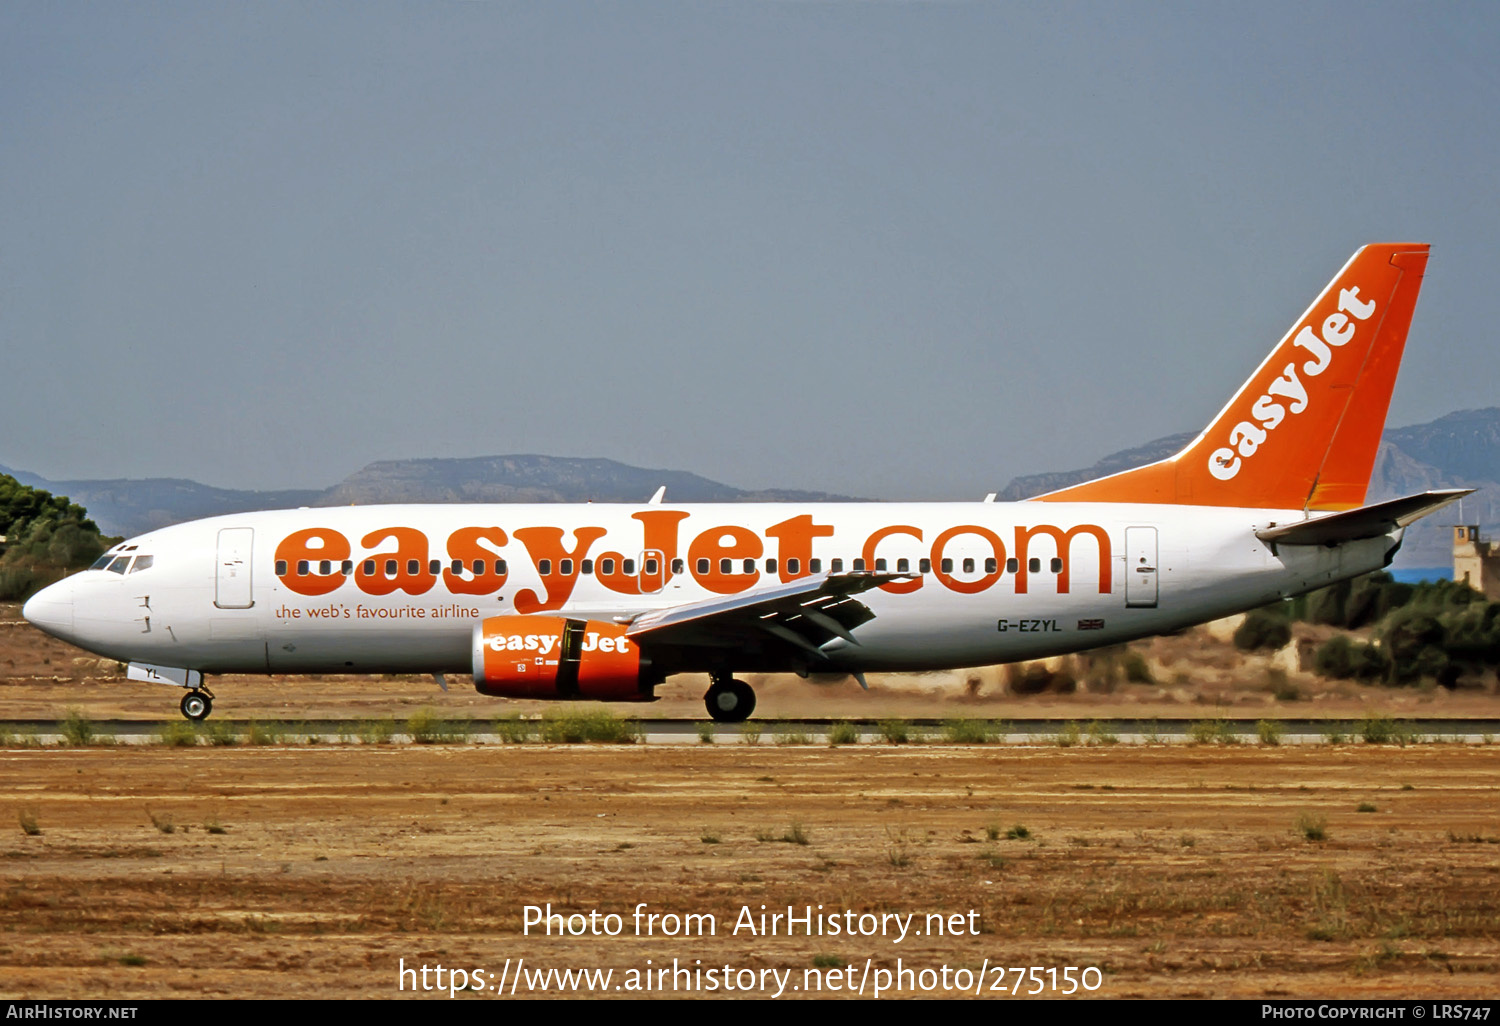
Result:
<svg viewBox="0 0 1500 1026">
<path fill-rule="evenodd" d="M 1197 429 L 1365 242 L 1500 405 L 1496 4 L 0 6 L 0 464 L 972 498 Z"/>
</svg>

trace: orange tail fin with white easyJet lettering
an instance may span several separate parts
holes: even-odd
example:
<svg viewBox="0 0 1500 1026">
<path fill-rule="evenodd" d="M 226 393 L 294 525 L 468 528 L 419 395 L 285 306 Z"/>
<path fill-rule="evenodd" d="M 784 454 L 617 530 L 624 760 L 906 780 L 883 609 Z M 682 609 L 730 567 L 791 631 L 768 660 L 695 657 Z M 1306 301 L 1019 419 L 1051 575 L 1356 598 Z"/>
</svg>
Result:
<svg viewBox="0 0 1500 1026">
<path fill-rule="evenodd" d="M 1382 243 L 1356 252 L 1214 423 L 1176 456 L 1038 498 L 1282 510 L 1360 506 L 1426 250 Z"/>
</svg>

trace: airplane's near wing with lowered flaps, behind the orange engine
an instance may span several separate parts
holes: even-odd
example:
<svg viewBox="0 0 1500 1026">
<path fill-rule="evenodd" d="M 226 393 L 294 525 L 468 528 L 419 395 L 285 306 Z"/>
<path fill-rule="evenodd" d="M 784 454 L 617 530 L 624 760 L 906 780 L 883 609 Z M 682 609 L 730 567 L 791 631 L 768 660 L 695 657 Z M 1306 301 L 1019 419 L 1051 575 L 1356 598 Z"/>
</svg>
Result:
<svg viewBox="0 0 1500 1026">
<path fill-rule="evenodd" d="M 855 598 L 856 594 L 910 576 L 830 573 L 820 578 L 802 578 L 724 598 L 654 609 L 634 616 L 626 628 L 626 636 L 663 645 L 732 646 L 759 634 L 762 639 L 771 636 L 816 658 L 826 658 L 822 652 L 824 645 L 834 638 L 858 645 L 854 628 L 874 620 L 870 608 Z"/>
</svg>

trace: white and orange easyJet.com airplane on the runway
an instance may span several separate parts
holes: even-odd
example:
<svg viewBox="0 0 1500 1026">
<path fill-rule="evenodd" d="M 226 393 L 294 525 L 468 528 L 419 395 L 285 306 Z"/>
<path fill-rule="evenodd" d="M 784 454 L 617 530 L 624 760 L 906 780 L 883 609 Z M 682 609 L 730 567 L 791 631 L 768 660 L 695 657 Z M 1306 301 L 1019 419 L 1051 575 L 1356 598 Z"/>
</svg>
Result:
<svg viewBox="0 0 1500 1026">
<path fill-rule="evenodd" d="M 1359 249 L 1178 454 L 1020 502 L 368 506 L 160 528 L 33 596 L 36 627 L 213 708 L 216 674 L 472 675 L 648 702 L 706 674 L 938 670 L 1170 633 L 1390 564 L 1467 492 L 1365 506 L 1426 267 Z"/>
</svg>

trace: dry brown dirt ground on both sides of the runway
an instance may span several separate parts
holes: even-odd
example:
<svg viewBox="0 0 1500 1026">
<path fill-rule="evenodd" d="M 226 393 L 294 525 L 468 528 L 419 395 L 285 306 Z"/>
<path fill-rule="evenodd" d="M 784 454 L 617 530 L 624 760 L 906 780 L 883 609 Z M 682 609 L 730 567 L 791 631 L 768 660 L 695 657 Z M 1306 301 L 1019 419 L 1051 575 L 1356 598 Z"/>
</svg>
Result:
<svg viewBox="0 0 1500 1026">
<path fill-rule="evenodd" d="M 1246 658 L 1210 632 L 1138 651 L 1150 682 L 1023 696 L 996 669 L 878 678 L 870 693 L 771 680 L 760 712 L 1450 717 L 1494 716 L 1497 702 L 1490 687 L 1342 688 L 1299 670 L 1292 650 Z M 447 694 L 364 678 L 214 688 L 216 717 L 532 708 L 460 681 Z M 700 716 L 700 692 L 674 682 L 638 710 Z M 68 708 L 177 720 L 176 692 L 0 627 L 0 718 Z M 422 990 L 442 964 L 484 987 L 459 999 L 484 999 L 502 980 L 508 993 L 522 958 L 528 974 L 609 969 L 615 996 L 674 960 L 706 974 L 702 990 L 669 972 L 651 994 L 724 996 L 728 968 L 756 994 L 777 993 L 776 974 L 786 996 L 840 974 L 870 996 L 885 972 L 902 994 L 957 996 L 944 987 L 968 980 L 1006 996 L 992 990 L 998 966 L 1058 969 L 1041 980 L 1059 987 L 1064 968 L 1092 966 L 1094 993 L 1110 998 L 1500 990 L 1500 746 L 830 748 L 770 734 L 754 747 L 0 750 L 0 996 L 447 1000 L 447 976 L 441 994 Z M 618 915 L 618 936 L 526 934 L 525 906 L 548 903 Z M 639 903 L 716 930 L 658 920 L 638 934 Z M 885 936 L 831 936 L 825 920 L 822 936 L 765 936 L 741 921 L 762 904 L 842 922 L 848 910 L 856 927 L 914 914 L 922 933 L 897 942 L 886 920 Z M 936 936 L 928 914 L 963 927 Z M 558 993 L 556 980 L 542 990 Z"/>
</svg>

